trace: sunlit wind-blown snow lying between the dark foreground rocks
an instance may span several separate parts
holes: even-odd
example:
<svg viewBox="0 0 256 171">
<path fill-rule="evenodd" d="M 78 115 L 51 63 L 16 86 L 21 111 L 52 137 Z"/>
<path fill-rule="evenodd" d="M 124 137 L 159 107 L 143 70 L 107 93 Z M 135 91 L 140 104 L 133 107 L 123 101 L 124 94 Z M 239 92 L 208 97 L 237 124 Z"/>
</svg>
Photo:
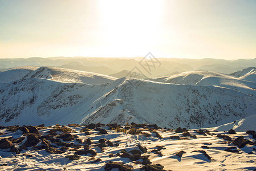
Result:
<svg viewBox="0 0 256 171">
<path fill-rule="evenodd" d="M 22 150 L 20 154 L 9 152 L 9 149 L 0 149 L 0 170 L 104 170 L 104 166 L 108 161 L 123 162 L 124 165 L 132 166 L 135 170 L 140 170 L 143 166 L 141 164 L 135 164 L 135 162 L 128 158 L 122 158 L 116 156 L 116 153 L 121 153 L 121 150 L 129 152 L 132 149 L 139 149 L 138 144 L 147 147 L 148 152 L 143 153 L 143 156 L 148 155 L 152 164 L 161 164 L 165 170 L 254 170 L 256 162 L 256 153 L 253 150 L 252 145 L 246 145 L 243 148 L 237 148 L 239 153 L 226 152 L 225 149 L 230 148 L 232 143 L 226 140 L 216 137 L 216 135 L 199 135 L 193 130 L 189 130 L 192 135 L 196 135 L 197 139 L 188 138 L 187 140 L 170 140 L 169 137 L 178 135 L 182 137 L 182 133 L 175 133 L 166 129 L 158 129 L 157 132 L 162 136 L 162 140 L 156 138 L 151 133 L 150 137 L 144 135 L 130 135 L 128 133 L 117 133 L 108 129 L 107 135 L 97 135 L 96 131 L 90 131 L 91 135 L 84 135 L 80 132 L 83 127 L 70 127 L 74 129 L 79 139 L 92 139 L 92 149 L 97 151 L 95 158 L 100 158 L 100 162 L 92 163 L 89 161 L 90 155 L 82 155 L 79 160 L 68 160 L 65 158 L 68 154 L 74 154 L 75 149 L 67 150 L 62 154 L 50 154 L 44 149 L 34 150 L 29 148 L 28 150 Z M 140 128 L 141 129 L 141 128 Z M 48 128 L 40 130 L 43 135 L 47 135 Z M 141 129 L 143 131 L 143 129 Z M 227 130 L 226 130 L 227 131 Z M 0 137 L 8 137 L 11 133 L 5 132 L 6 135 Z M 216 134 L 221 133 L 225 135 L 226 132 L 213 132 Z M 12 135 L 12 134 L 11 134 Z M 19 136 L 22 136 L 20 134 Z M 238 136 L 244 136 L 247 140 L 253 141 L 249 135 L 245 132 L 237 132 L 237 134 L 228 135 L 233 140 Z M 112 142 L 118 142 L 119 146 L 107 146 L 101 151 L 94 144 L 98 143 L 99 139 L 107 139 Z M 68 142 L 70 143 L 70 142 Z M 71 143 L 79 144 L 75 140 Z M 209 149 L 201 148 L 204 143 L 212 143 L 207 145 Z M 51 143 L 52 145 L 54 143 Z M 83 144 L 82 144 L 83 145 Z M 157 145 L 163 145 L 164 149 L 161 149 L 163 156 L 155 154 L 152 150 L 157 149 Z M 56 146 L 59 148 L 60 146 Z M 83 149 L 83 146 L 81 147 Z M 80 149 L 81 149 L 80 148 Z M 176 153 L 180 150 L 184 150 L 186 153 L 182 157 L 176 156 Z M 194 150 L 205 150 L 205 152 L 211 157 L 211 160 L 206 158 L 204 154 L 200 152 L 193 152 Z M 251 152 L 252 154 L 248 154 Z M 24 153 L 31 155 L 31 157 L 23 155 Z M 113 153 L 113 157 L 109 157 L 109 154 Z M 142 161 L 141 159 L 139 161 Z M 2 165 L 5 164 L 5 165 Z"/>
</svg>

